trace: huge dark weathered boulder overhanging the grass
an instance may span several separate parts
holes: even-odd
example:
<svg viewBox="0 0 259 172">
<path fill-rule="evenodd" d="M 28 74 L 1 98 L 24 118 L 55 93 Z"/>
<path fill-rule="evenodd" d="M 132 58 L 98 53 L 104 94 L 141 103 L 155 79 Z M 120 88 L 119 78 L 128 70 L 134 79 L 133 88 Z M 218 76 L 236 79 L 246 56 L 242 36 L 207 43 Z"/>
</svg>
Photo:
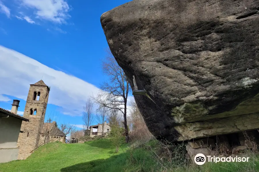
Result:
<svg viewBox="0 0 259 172">
<path fill-rule="evenodd" d="M 101 16 L 157 138 L 259 128 L 259 0 L 134 0 Z"/>
</svg>

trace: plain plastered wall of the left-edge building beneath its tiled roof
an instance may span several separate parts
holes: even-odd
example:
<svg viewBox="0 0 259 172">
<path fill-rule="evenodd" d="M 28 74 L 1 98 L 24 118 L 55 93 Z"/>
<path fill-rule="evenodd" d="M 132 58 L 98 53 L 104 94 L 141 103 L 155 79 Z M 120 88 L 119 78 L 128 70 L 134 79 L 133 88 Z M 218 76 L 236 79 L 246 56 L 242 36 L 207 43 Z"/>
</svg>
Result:
<svg viewBox="0 0 259 172">
<path fill-rule="evenodd" d="M 17 160 L 17 141 L 22 120 L 9 116 L 0 119 L 0 163 Z"/>
</svg>

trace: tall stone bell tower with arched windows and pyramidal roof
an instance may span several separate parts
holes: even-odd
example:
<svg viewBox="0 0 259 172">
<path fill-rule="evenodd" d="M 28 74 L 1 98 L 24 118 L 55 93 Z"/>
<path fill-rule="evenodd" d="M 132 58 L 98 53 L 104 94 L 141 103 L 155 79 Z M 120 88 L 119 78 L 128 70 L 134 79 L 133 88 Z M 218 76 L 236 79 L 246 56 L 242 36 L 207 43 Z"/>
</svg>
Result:
<svg viewBox="0 0 259 172">
<path fill-rule="evenodd" d="M 18 159 L 26 159 L 31 151 L 39 146 L 40 131 L 44 122 L 49 98 L 49 87 L 40 80 L 30 85 L 23 116 L 29 122 L 22 122 L 18 138 Z"/>
</svg>

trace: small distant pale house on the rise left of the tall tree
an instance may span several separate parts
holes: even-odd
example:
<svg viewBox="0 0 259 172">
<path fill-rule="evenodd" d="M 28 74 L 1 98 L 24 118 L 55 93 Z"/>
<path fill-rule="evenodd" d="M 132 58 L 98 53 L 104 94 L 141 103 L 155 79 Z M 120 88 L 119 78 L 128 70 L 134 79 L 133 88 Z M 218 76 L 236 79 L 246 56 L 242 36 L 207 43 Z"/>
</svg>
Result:
<svg viewBox="0 0 259 172">
<path fill-rule="evenodd" d="M 85 136 L 102 137 L 110 132 L 111 128 L 109 123 L 104 121 L 103 124 L 97 124 L 89 127 L 89 130 L 84 130 Z"/>
</svg>

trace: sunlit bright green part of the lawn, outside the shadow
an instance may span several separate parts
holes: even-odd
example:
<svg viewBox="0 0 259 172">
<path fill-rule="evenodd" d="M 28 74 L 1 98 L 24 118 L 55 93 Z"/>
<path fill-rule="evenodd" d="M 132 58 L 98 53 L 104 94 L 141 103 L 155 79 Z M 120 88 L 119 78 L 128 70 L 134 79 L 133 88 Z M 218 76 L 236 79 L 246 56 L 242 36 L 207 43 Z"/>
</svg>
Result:
<svg viewBox="0 0 259 172">
<path fill-rule="evenodd" d="M 114 152 L 115 148 L 108 139 L 78 144 L 49 143 L 39 147 L 26 160 L 1 163 L 0 172 L 85 171 L 95 166 L 96 163 L 91 161 L 107 159 Z M 78 167 L 75 167 L 77 164 Z"/>
</svg>

